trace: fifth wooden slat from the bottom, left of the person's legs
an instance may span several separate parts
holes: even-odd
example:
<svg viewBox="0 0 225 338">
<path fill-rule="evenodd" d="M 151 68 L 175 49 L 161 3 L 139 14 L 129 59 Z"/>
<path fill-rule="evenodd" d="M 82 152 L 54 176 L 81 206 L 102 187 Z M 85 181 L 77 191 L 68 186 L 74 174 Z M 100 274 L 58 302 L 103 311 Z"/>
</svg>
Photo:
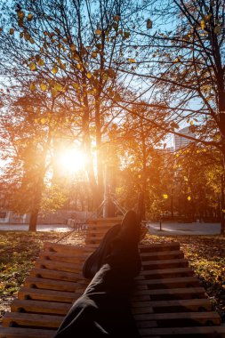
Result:
<svg viewBox="0 0 225 338">
<path fill-rule="evenodd" d="M 83 290 L 84 286 L 81 286 L 79 283 L 66 282 L 61 280 L 53 280 L 47 278 L 34 278 L 28 277 L 24 282 L 25 287 L 34 287 L 38 289 L 47 289 L 47 290 L 58 290 L 58 291 L 68 291 L 75 292 L 76 290 Z"/>
</svg>

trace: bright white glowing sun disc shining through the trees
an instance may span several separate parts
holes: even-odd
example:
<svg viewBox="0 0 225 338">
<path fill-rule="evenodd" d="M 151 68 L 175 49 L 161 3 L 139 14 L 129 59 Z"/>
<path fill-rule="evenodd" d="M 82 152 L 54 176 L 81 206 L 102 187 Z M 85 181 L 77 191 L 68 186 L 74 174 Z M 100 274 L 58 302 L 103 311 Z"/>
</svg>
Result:
<svg viewBox="0 0 225 338">
<path fill-rule="evenodd" d="M 86 164 L 84 152 L 80 149 L 65 149 L 57 157 L 57 164 L 60 172 L 65 174 L 78 173 L 84 171 Z"/>
</svg>

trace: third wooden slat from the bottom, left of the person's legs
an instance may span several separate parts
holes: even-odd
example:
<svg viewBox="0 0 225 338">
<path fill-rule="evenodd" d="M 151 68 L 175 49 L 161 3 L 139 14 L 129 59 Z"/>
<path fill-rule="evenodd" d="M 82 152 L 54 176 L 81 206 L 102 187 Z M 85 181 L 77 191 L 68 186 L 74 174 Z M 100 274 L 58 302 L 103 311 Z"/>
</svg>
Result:
<svg viewBox="0 0 225 338">
<path fill-rule="evenodd" d="M 65 316 L 71 308 L 68 302 L 44 302 L 15 299 L 11 304 L 12 312 L 34 312 Z"/>
</svg>

